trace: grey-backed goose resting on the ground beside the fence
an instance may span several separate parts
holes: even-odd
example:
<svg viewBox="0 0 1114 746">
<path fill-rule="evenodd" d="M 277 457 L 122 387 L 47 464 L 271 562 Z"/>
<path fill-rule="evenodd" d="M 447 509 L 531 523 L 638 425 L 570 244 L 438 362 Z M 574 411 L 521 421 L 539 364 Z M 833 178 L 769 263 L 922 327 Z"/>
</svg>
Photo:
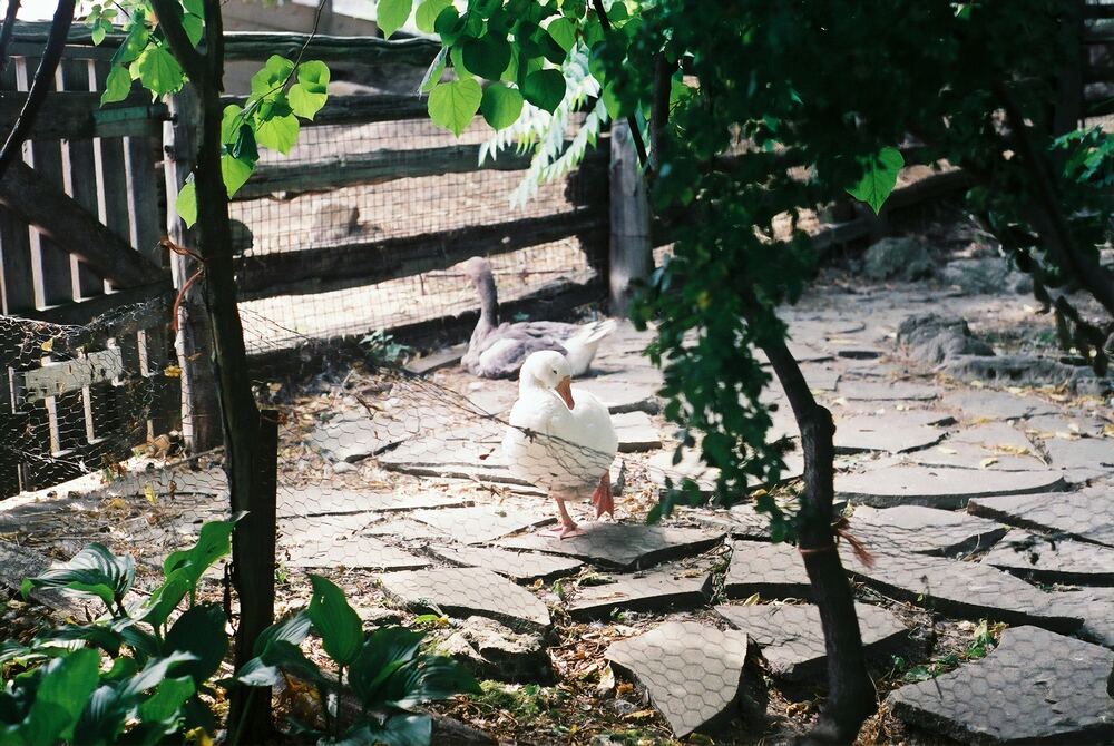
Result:
<svg viewBox="0 0 1114 746">
<path fill-rule="evenodd" d="M 568 357 L 573 375 L 583 375 L 596 355 L 599 341 L 612 333 L 610 318 L 588 324 L 566 324 L 555 321 L 499 323 L 499 297 L 496 293 L 491 263 L 473 256 L 463 264 L 480 296 L 480 318 L 468 341 L 468 351 L 460 363 L 472 375 L 485 379 L 510 379 L 518 373 L 526 357 L 540 350 L 555 350 Z"/>
</svg>

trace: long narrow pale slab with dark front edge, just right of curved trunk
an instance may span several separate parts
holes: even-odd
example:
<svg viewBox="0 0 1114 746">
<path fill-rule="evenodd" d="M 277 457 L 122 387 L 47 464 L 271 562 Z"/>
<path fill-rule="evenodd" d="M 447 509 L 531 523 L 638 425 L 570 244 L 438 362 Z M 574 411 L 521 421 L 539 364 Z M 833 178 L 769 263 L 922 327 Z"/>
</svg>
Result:
<svg viewBox="0 0 1114 746">
<path fill-rule="evenodd" d="M 1058 471 L 981 471 L 948 467 L 883 467 L 836 475 L 836 493 L 854 503 L 887 508 L 962 508 L 971 498 L 1052 492 L 1066 487 Z"/>
</svg>

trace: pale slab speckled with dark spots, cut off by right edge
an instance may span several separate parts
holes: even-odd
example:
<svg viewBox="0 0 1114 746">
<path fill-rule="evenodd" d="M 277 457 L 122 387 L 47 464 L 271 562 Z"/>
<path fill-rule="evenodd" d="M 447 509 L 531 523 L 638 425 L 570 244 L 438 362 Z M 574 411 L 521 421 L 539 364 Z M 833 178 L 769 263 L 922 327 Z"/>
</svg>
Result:
<svg viewBox="0 0 1114 746">
<path fill-rule="evenodd" d="M 1018 529 L 1007 533 L 983 562 L 1036 582 L 1114 585 L 1114 549 L 1075 539 L 1049 541 Z"/>
</svg>

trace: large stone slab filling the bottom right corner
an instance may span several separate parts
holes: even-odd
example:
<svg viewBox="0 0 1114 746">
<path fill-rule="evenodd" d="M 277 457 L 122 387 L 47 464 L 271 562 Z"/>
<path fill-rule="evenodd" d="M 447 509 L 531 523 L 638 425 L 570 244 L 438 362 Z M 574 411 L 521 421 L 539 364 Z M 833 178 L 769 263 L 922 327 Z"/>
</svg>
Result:
<svg viewBox="0 0 1114 746">
<path fill-rule="evenodd" d="M 907 722 L 964 743 L 1102 743 L 1114 738 L 1106 694 L 1114 652 L 1037 627 L 1016 627 L 986 658 L 897 689 Z"/>
</svg>

